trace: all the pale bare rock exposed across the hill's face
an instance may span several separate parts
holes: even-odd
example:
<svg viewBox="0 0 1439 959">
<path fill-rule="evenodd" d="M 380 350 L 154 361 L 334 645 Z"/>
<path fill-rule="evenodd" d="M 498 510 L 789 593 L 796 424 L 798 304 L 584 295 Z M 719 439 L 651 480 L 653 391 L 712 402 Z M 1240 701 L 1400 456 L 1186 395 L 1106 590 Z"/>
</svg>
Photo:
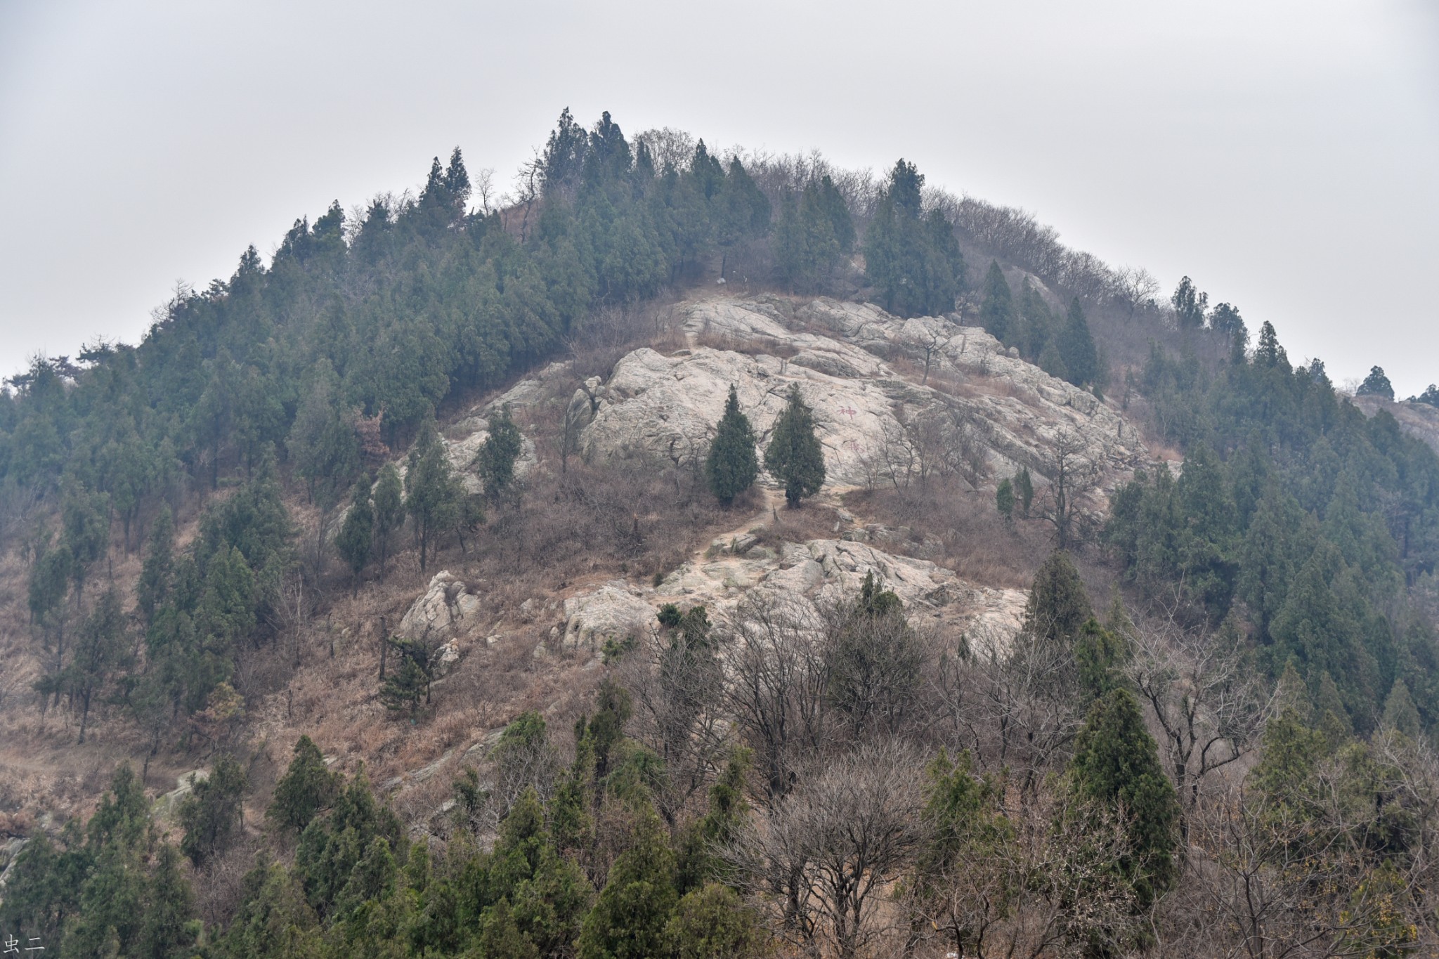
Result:
<svg viewBox="0 0 1439 959">
<path fill-rule="evenodd" d="M 1109 403 L 1019 359 L 994 336 L 957 316 L 899 319 L 872 305 L 781 296 L 707 298 L 673 308 L 681 334 L 668 348 L 623 355 L 609 377 L 574 390 L 564 423 L 587 460 L 658 457 L 698 469 L 730 385 L 763 450 L 791 384 L 814 411 L 826 483 L 817 505 L 833 509 L 827 538 L 776 541 L 783 495 L 761 473 L 760 510 L 731 533 L 653 581 L 609 579 L 566 591 L 551 604 L 540 651 L 597 656 L 607 640 L 645 634 L 659 605 L 704 604 L 734 617 L 751 591 L 804 605 L 852 591 L 869 574 L 921 618 L 1003 643 L 1020 624 L 1023 589 L 974 582 L 925 558 L 909 529 L 865 522 L 843 508 L 856 490 L 898 487 L 947 473 L 971 493 L 991 496 L 1000 477 L 1029 469 L 1043 489 L 1068 457 L 1071 476 L 1091 479 L 1081 508 L 1098 518 L 1105 493 L 1148 460 L 1135 427 Z M 450 428 L 452 460 L 468 464 L 499 405 L 545 403 L 570 375 L 553 364 L 488 401 Z M 525 469 L 532 469 L 527 441 Z M 902 546 L 902 551 L 901 551 Z M 443 620 L 453 643 L 484 643 L 488 625 L 465 614 L 468 597 L 440 574 L 416 598 L 406 624 Z M 541 623 L 543 624 L 543 623 Z"/>
</svg>

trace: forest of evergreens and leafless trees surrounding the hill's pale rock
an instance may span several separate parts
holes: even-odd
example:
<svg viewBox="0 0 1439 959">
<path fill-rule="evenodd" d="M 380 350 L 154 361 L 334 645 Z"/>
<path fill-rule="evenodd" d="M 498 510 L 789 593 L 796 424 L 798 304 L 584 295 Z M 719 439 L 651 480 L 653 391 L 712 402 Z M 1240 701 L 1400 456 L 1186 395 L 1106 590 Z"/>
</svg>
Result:
<svg viewBox="0 0 1439 959">
<path fill-rule="evenodd" d="M 566 111 L 518 183 L 476 207 L 456 150 L 414 196 L 296 220 L 269 263 L 245 250 L 142 342 L 9 381 L 0 549 L 43 670 L 4 676 L 6 709 L 210 775 L 173 837 L 130 763 L 89 817 L 13 830 L 0 935 L 153 958 L 1439 947 L 1435 450 L 1189 277 L 1166 298 L 905 160 L 875 178 Z M 555 421 L 531 486 L 508 410 L 478 492 L 445 456 L 465 404 L 554 359 L 600 375 L 658 305 L 718 280 L 980 325 L 1183 464 L 1137 472 L 1095 528 L 1045 523 L 1027 470 L 871 496 L 935 528 L 980 510 L 1029 564 L 1004 654 L 872 579 L 817 608 L 757 595 L 735 623 L 669 605 L 604 648 L 573 725 L 507 717 L 442 830 L 309 736 L 246 822 L 245 706 L 275 690 L 245 664 L 295 633 L 296 597 L 318 614 L 400 554 L 558 571 L 577 543 L 658 577 L 760 456 L 806 512 L 823 464 L 797 394 L 784 454 L 715 410 L 702 473 L 578 463 Z M 1386 388 L 1376 368 L 1361 390 Z M 636 497 L 659 503 L 643 531 Z M 437 651 L 384 640 L 374 694 L 423 723 Z M 213 891 L 246 834 L 259 854 Z"/>
</svg>

